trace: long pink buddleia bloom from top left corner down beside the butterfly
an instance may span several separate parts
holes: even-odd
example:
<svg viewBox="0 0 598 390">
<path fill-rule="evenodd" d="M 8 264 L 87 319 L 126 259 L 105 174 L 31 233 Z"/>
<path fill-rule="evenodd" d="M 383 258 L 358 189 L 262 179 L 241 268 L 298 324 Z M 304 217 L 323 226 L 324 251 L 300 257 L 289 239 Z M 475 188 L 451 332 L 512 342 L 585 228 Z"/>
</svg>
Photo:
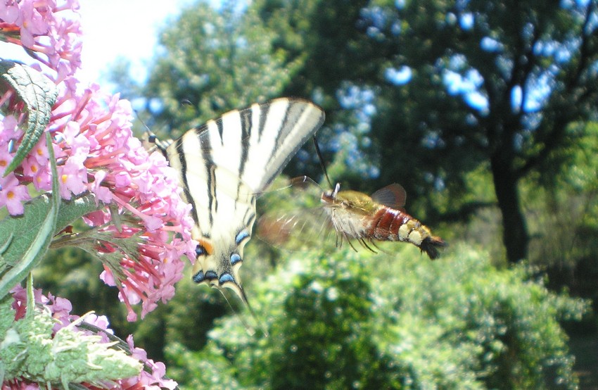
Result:
<svg viewBox="0 0 598 390">
<path fill-rule="evenodd" d="M 58 13 L 73 11 L 78 6 L 75 1 L 60 2 L 60 5 L 49 0 L 5 2 L 0 17 L 8 18 L 17 7 L 20 14 L 13 23 L 25 26 L 27 32 L 20 30 L 20 35 L 13 34 L 5 19 L 0 22 L 0 34 L 6 37 L 7 31 L 11 32 L 8 42 L 46 54 L 44 64 L 56 71 L 53 80 L 57 83 L 58 98 L 48 129 L 53 135 L 61 197 L 72 199 L 95 194 L 100 210 L 84 220 L 98 228 L 98 234 L 137 242 L 138 253 L 128 253 L 110 240 L 98 239 L 96 245 L 98 253 L 109 253 L 112 259 L 120 256 L 120 260 L 105 264 L 102 278 L 120 289 L 120 298 L 129 309 L 128 318 L 135 320 L 132 306 L 142 303 L 143 317 L 159 301 L 172 298 L 174 284 L 182 277 L 184 268 L 181 257 L 186 254 L 192 260 L 195 258 L 190 206 L 180 199 L 177 175 L 165 158 L 160 153 L 148 156 L 139 139 L 133 137 L 130 103 L 118 95 L 103 94 L 97 85 L 77 89 L 71 70 L 79 61 L 78 20 L 61 18 Z M 41 32 L 44 23 L 49 26 L 47 33 Z M 26 34 L 33 37 L 32 46 L 20 40 Z M 23 105 L 19 106 L 10 92 L 0 96 L 0 104 L 3 103 L 9 105 L 10 112 L 24 112 Z M 0 150 L 10 150 L 11 143 L 15 148 L 18 146 L 24 122 L 24 115 L 7 115 L 3 119 Z M 13 215 L 23 213 L 23 201 L 29 199 L 23 191 L 27 184 L 33 184 L 38 191 L 51 191 L 48 156 L 45 140 L 40 139 L 22 167 L 0 183 L 6 189 L 0 190 L 0 207 L 7 206 Z M 11 160 L 11 156 L 0 156 L 0 165 L 3 158 L 6 163 Z M 112 211 L 109 205 L 113 206 Z M 122 226 L 118 228 L 111 215 L 115 210 L 122 215 Z"/>
</svg>

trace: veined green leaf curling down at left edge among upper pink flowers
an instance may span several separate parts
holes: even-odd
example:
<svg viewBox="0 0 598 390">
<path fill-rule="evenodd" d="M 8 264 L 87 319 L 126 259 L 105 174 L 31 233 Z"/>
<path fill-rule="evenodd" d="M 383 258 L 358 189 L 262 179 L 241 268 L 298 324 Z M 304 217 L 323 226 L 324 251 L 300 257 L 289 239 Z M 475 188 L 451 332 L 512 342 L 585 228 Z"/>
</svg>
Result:
<svg viewBox="0 0 598 390">
<path fill-rule="evenodd" d="M 0 75 L 23 100 L 27 110 L 27 128 L 15 158 L 8 164 L 4 172 L 4 176 L 6 176 L 23 162 L 27 153 L 39 141 L 39 137 L 42 137 L 42 133 L 50 121 L 52 106 L 58 96 L 58 90 L 56 84 L 48 77 L 21 63 L 0 61 Z M 0 85 L 0 91 L 4 92 L 5 88 L 6 86 Z"/>
</svg>

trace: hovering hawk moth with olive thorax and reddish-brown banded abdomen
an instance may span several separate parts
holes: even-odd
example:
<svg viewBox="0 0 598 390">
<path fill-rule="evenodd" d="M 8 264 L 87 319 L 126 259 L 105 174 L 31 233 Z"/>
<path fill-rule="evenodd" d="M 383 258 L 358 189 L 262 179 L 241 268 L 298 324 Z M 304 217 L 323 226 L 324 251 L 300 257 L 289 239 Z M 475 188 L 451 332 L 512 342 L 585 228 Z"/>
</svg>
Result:
<svg viewBox="0 0 598 390">
<path fill-rule="evenodd" d="M 402 210 L 405 190 L 398 184 L 390 184 L 372 196 L 340 191 L 336 184 L 333 191 L 324 191 L 322 203 L 336 232 L 349 242 L 356 239 L 367 248 L 367 242 L 374 240 L 409 242 L 431 259 L 438 258 L 438 249 L 445 246 L 443 239 L 433 236 L 426 225 Z"/>
</svg>

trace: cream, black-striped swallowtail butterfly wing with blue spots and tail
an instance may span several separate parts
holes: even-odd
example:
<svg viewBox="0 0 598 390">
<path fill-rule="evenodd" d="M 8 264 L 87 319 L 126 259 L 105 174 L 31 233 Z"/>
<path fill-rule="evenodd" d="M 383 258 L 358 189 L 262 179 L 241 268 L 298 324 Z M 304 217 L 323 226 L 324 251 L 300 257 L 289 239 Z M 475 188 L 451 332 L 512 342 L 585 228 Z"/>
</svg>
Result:
<svg viewBox="0 0 598 390">
<path fill-rule="evenodd" d="M 275 99 L 209 120 L 167 148 L 193 206 L 195 282 L 228 287 L 247 303 L 238 270 L 255 222 L 255 196 L 323 122 L 324 112 L 308 101 Z"/>
</svg>

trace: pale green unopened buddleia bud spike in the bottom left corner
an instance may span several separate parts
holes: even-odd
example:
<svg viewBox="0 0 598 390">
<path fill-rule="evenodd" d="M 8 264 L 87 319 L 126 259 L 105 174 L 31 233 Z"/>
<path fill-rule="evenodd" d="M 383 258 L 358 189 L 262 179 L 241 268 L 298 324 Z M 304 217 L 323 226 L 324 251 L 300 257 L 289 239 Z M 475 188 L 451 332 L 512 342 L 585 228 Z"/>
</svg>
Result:
<svg viewBox="0 0 598 390">
<path fill-rule="evenodd" d="M 73 322 L 52 334 L 56 320 L 43 309 L 32 309 L 14 322 L 12 297 L 0 305 L 0 372 L 4 380 L 25 378 L 40 384 L 87 382 L 103 386 L 108 381 L 134 377 L 141 363 L 123 351 L 101 343 L 101 336 L 73 329 Z"/>
</svg>

